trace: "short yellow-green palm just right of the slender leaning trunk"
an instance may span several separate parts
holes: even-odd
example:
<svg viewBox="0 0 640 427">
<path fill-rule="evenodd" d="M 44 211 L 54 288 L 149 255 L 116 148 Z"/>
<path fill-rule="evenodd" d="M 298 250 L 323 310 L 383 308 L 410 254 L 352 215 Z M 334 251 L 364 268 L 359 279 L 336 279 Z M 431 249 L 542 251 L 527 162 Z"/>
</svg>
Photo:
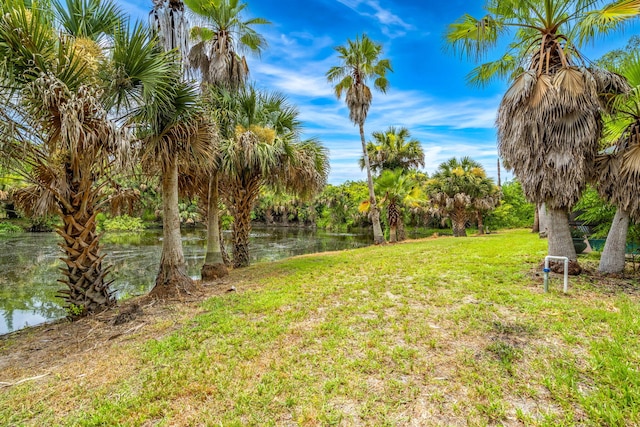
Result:
<svg viewBox="0 0 640 427">
<path fill-rule="evenodd" d="M 384 194 L 381 205 L 387 206 L 387 222 L 389 223 L 389 242 L 404 240 L 403 207 L 417 204 L 421 198 L 420 186 L 413 176 L 403 169 L 384 170 L 376 178 L 376 193 Z"/>
</svg>

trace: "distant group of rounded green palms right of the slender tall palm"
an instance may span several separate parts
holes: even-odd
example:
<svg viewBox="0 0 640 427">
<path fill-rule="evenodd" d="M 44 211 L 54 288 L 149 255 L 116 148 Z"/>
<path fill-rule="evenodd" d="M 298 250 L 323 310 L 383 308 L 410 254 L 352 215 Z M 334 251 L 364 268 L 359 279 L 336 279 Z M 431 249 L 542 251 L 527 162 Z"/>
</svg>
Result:
<svg viewBox="0 0 640 427">
<path fill-rule="evenodd" d="M 405 239 L 405 210 L 448 218 L 455 237 L 466 236 L 466 227 L 476 222 L 484 233 L 483 214 L 500 202 L 500 189 L 486 176 L 480 163 L 469 157 L 449 159 L 429 177 L 418 168 L 424 166 L 424 151 L 405 127 L 390 126 L 372 133 L 366 144 L 369 167 L 374 175 L 375 194 L 387 212 L 389 241 Z M 366 167 L 365 156 L 360 167 Z M 370 209 L 364 202 L 363 209 Z"/>
</svg>

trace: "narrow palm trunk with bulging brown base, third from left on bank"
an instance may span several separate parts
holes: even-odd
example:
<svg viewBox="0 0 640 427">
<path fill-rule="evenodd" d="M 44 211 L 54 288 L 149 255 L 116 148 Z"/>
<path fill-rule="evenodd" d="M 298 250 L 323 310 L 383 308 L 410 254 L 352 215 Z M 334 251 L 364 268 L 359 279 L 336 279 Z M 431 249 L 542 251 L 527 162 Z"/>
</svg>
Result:
<svg viewBox="0 0 640 427">
<path fill-rule="evenodd" d="M 218 174 L 209 177 L 208 215 L 207 215 L 207 255 L 200 271 L 202 280 L 209 281 L 229 274 L 222 258 L 220 245 L 220 211 L 218 210 L 219 191 Z"/>
</svg>

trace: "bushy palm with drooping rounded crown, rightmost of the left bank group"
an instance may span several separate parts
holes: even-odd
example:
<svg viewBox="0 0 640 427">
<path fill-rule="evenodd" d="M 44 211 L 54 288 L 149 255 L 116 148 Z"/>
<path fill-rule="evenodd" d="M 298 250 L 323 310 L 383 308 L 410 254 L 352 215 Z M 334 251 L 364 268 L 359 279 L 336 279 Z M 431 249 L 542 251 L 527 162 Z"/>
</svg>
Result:
<svg viewBox="0 0 640 427">
<path fill-rule="evenodd" d="M 301 197 L 326 183 L 326 149 L 315 140 L 299 140 L 298 111 L 277 93 L 253 87 L 237 97 L 235 136 L 220 143 L 222 192 L 233 222 L 233 265 L 249 265 L 251 211 L 260 189 L 270 185 Z"/>
</svg>

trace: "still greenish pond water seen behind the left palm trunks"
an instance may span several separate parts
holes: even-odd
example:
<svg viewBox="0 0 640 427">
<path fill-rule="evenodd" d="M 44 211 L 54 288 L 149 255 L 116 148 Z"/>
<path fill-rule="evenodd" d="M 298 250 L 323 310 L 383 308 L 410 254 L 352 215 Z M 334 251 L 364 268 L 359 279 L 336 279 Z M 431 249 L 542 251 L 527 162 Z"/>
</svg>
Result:
<svg viewBox="0 0 640 427">
<path fill-rule="evenodd" d="M 162 230 L 142 233 L 111 233 L 103 237 L 103 252 L 112 264 L 116 296 L 126 298 L 147 293 L 153 286 L 160 262 Z M 230 233 L 225 244 L 231 251 Z M 56 297 L 64 285 L 57 282 L 62 255 L 55 233 L 0 235 L 0 335 L 60 319 L 65 316 Z M 269 262 L 295 255 L 352 249 L 370 245 L 368 233 L 328 233 L 301 228 L 254 227 L 249 243 L 251 262 Z M 187 270 L 199 278 L 206 249 L 205 230 L 183 230 L 182 243 Z"/>
</svg>

